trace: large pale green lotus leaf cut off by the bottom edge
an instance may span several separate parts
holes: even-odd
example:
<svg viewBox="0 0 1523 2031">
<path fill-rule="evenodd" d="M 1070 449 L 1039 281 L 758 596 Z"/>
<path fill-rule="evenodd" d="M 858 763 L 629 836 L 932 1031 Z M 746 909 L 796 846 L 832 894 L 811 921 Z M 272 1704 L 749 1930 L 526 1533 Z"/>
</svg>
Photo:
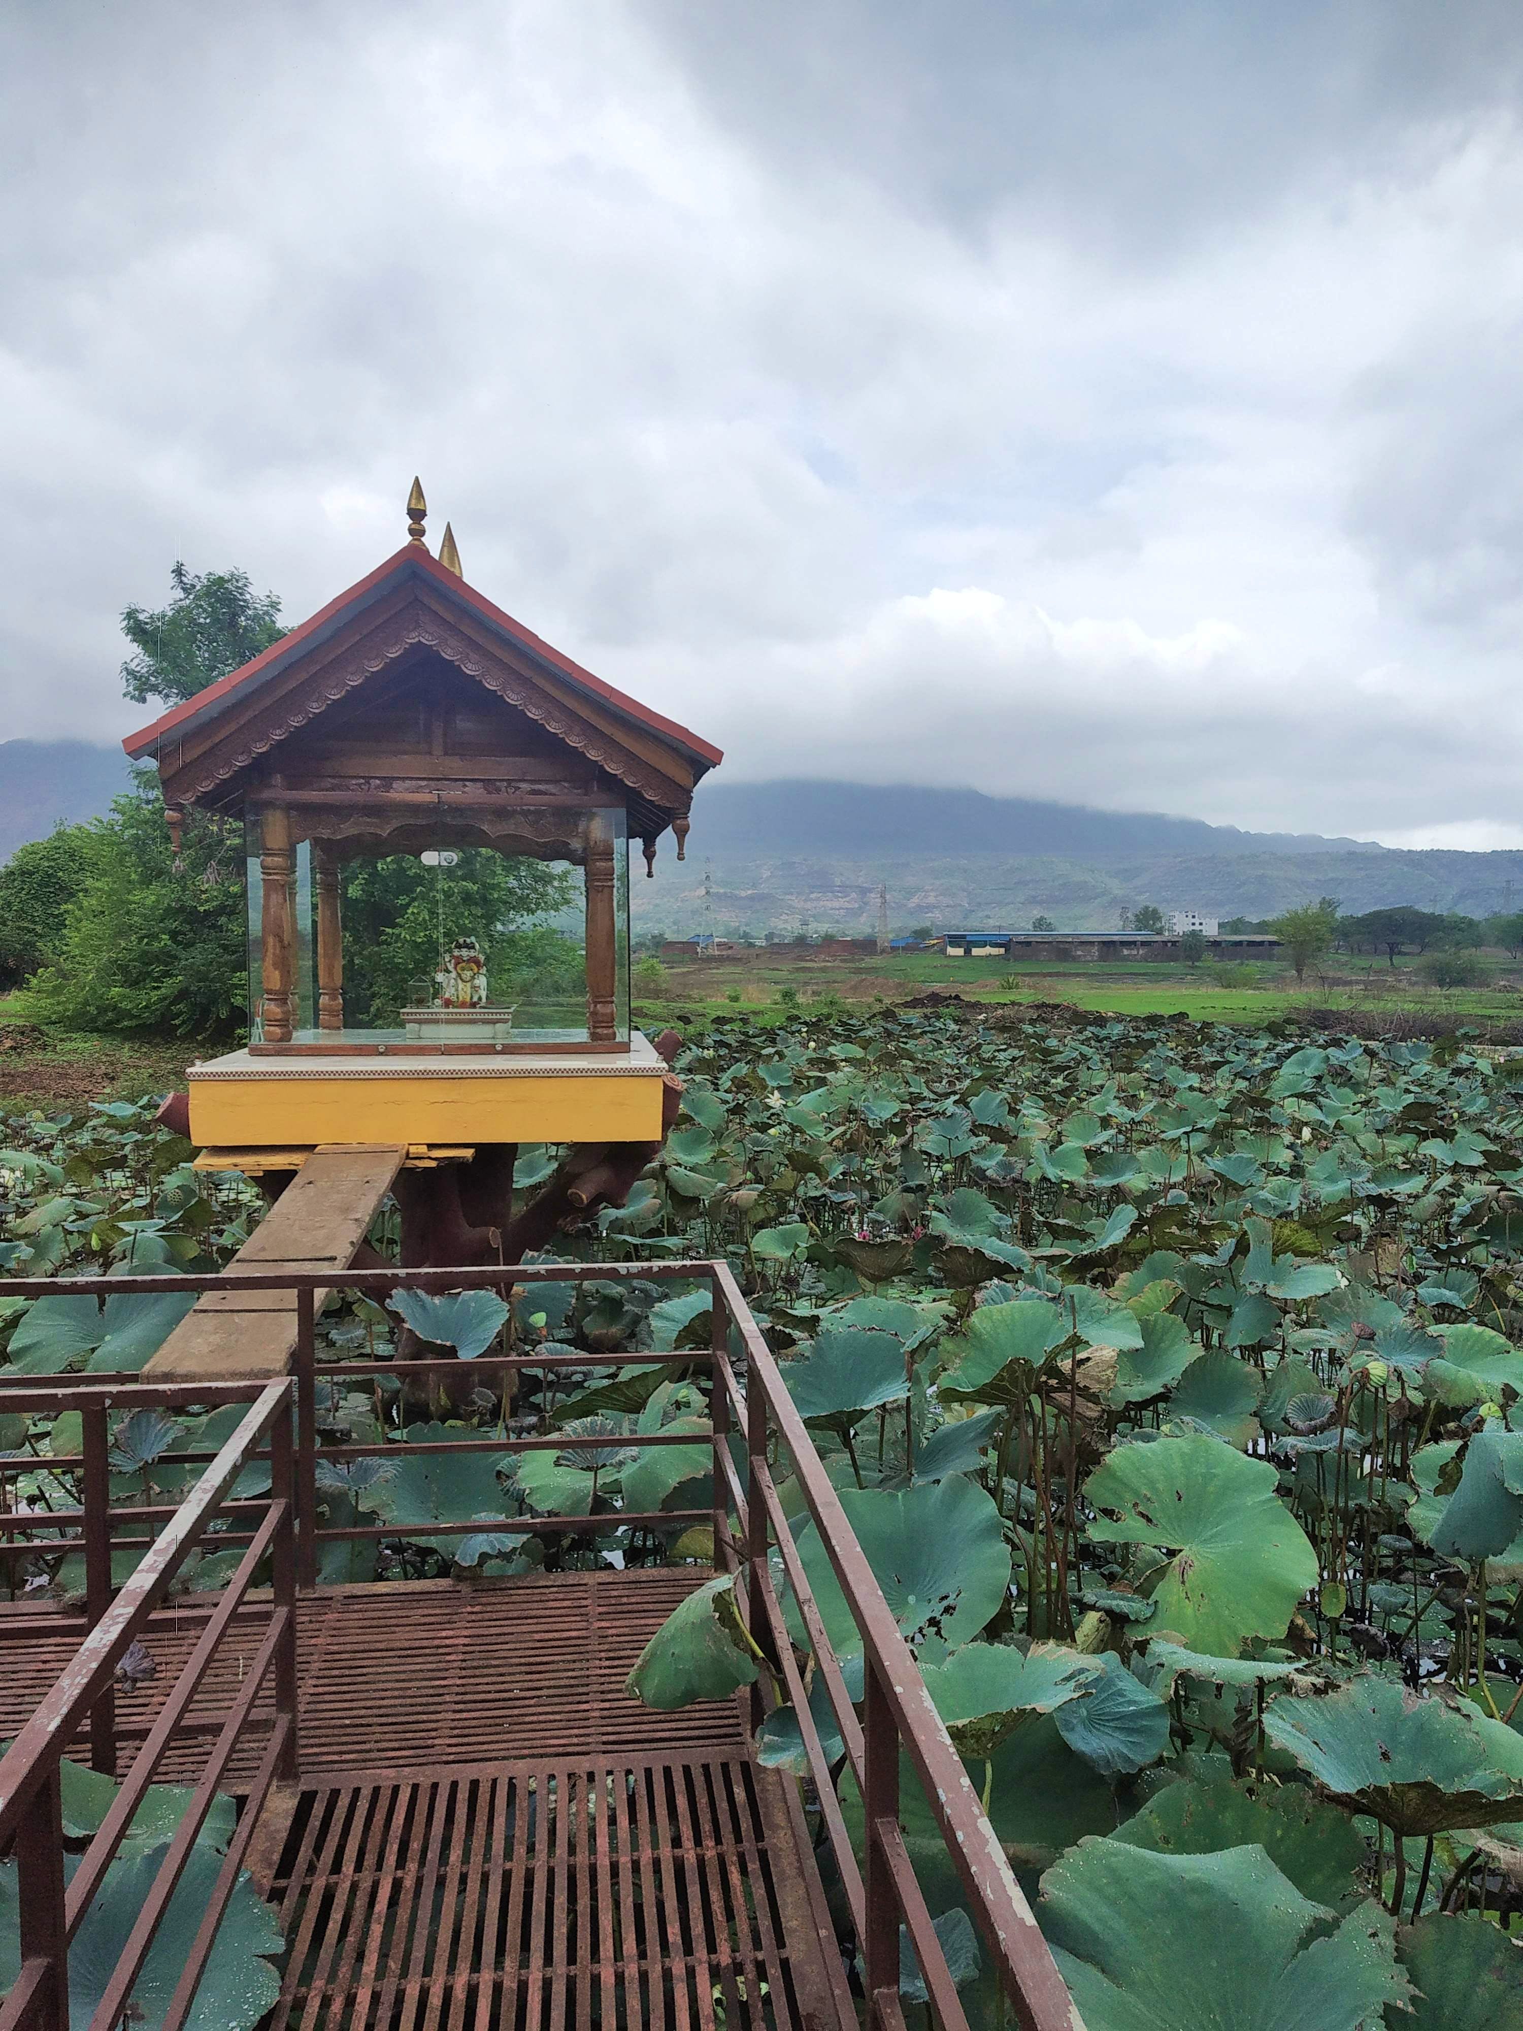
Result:
<svg viewBox="0 0 1523 2031">
<path fill-rule="evenodd" d="M 1080 1840 L 1038 1917 L 1088 2031 L 1361 2031 L 1409 1994 L 1395 1919 L 1365 1903 L 1330 1931 L 1259 1846 Z"/>
</svg>

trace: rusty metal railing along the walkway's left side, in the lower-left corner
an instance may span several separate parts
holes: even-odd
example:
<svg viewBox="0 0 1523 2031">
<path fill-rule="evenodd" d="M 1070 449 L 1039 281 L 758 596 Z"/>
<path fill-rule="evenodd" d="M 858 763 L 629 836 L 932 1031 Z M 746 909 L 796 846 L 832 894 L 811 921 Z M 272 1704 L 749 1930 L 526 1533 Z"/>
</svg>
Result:
<svg viewBox="0 0 1523 2031">
<path fill-rule="evenodd" d="M 296 1769 L 296 1604 L 294 1604 L 294 1531 L 292 1531 L 292 1385 L 288 1381 L 231 1385 L 134 1385 L 140 1397 L 162 1405 L 185 1403 L 250 1403 L 248 1414 L 207 1472 L 187 1499 L 171 1513 L 164 1531 L 148 1550 L 112 1600 L 110 1572 L 110 1503 L 106 1422 L 122 1407 L 122 1385 L 81 1379 L 75 1385 L 39 1387 L 35 1381 L 8 1387 L 4 1403 L 12 1412 L 39 1414 L 75 1410 L 85 1432 L 85 1452 L 77 1464 L 85 1468 L 85 1501 L 81 1505 L 85 1554 L 85 1613 L 91 1621 L 79 1651 L 45 1694 L 30 1720 L 22 1726 L 10 1751 L 0 1759 L 0 1852 L 14 1844 L 20 1903 L 20 1978 L 0 2005 L 0 2031 L 69 2031 L 69 1944 L 89 1911 L 91 1899 L 106 1881 L 106 1871 L 122 1838 L 142 1806 L 164 1751 L 187 1720 L 187 1710 L 199 1690 L 219 1643 L 234 1623 L 254 1568 L 266 1554 L 272 1558 L 272 1604 L 252 1661 L 238 1694 L 219 1718 L 217 1734 L 205 1759 L 191 1804 L 169 1840 L 164 1858 L 142 1903 L 106 1992 L 91 2017 L 91 2031 L 114 2031 L 124 2021 L 134 1982 L 142 1970 L 154 1934 L 169 1909 L 175 1887 L 191 1856 L 195 1838 L 217 1795 L 219 1781 L 250 1728 L 254 1702 L 266 1678 L 274 1678 L 274 1724 L 264 1745 L 258 1771 L 248 1787 L 248 1801 L 223 1864 L 217 1873 L 205 1915 L 197 1927 L 191 1954 L 175 1984 L 162 2019 L 164 2031 L 185 2023 L 207 1958 L 217 1938 L 217 1925 L 238 1885 L 248 1840 L 258 1822 L 270 1785 Z M 91 1761 L 114 1769 L 114 1676 L 132 1643 L 148 1627 L 148 1619 L 164 1598 L 185 1556 L 201 1542 L 211 1521 L 227 1505 L 227 1493 L 256 1448 L 268 1442 L 270 1497 L 258 1505 L 264 1521 L 246 1531 L 246 1552 L 227 1586 L 207 1615 L 205 1627 L 169 1690 L 142 1747 L 132 1759 L 120 1791 L 95 1838 L 85 1848 L 73 1881 L 65 1887 L 63 1871 L 63 1797 L 61 1773 L 65 1751 L 87 1728 Z M 248 1503 L 238 1505 L 248 1511 Z M 205 1720 L 197 1732 L 205 1730 Z"/>
</svg>

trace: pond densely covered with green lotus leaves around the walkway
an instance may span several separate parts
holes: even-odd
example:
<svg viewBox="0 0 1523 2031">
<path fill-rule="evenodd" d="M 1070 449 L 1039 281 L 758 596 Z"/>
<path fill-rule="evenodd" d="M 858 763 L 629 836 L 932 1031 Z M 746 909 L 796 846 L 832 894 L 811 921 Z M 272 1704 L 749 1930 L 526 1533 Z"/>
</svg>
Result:
<svg viewBox="0 0 1523 2031">
<path fill-rule="evenodd" d="M 1523 1080 L 1464 1038 L 1312 1046 L 983 1013 L 715 1022 L 678 1060 L 684 1119 L 662 1158 L 562 1251 L 735 1263 L 1090 2031 L 1523 2025 L 1507 1934 L 1523 1899 Z M 258 1210 L 236 1182 L 207 1196 L 142 1111 L 12 1119 L 6 1141 L 10 1273 L 215 1263 Z M 522 1152 L 520 1182 L 552 1162 Z M 0 1298 L 10 1365 L 124 1367 L 169 1330 L 144 1310 L 169 1300 L 120 1300 L 118 1318 L 79 1304 Z M 327 1430 L 398 1446 L 333 1470 L 329 1515 L 481 1517 L 457 1558 L 485 1574 L 707 1556 L 619 1527 L 621 1507 L 709 1501 L 703 1387 L 619 1361 L 707 1345 L 707 1304 L 654 1280 L 534 1286 L 512 1308 L 412 1300 L 408 1326 L 463 1357 L 512 1338 L 585 1367 L 512 1405 L 414 1401 L 390 1377 L 333 1389 Z M 347 1304 L 323 1326 L 333 1351 L 374 1357 L 400 1320 Z M 642 1448 L 674 1420 L 690 1454 Z M 408 1458 L 408 1438 L 546 1424 L 607 1446 L 516 1470 L 475 1456 L 461 1477 Z M 53 1442 L 0 1432 L 8 1501 L 53 1499 Z M 158 1485 L 154 1446 L 171 1438 L 124 1424 L 124 1491 Z M 491 1531 L 552 1509 L 607 1529 L 575 1546 Z M 353 1558 L 449 1570 L 447 1542 L 414 1531 Z M 798 1544 L 851 1682 L 855 1633 L 812 1525 Z M 193 1584 L 215 1582 L 215 1556 Z M 347 1550 L 329 1576 L 357 1576 Z M 77 1580 L 39 1558 L 20 1584 Z M 648 1700 L 764 1669 L 725 1590 L 654 1639 L 632 1682 Z M 762 1753 L 800 1767 L 788 1708 Z M 841 1795 L 851 1820 L 845 1773 Z M 906 1781 L 930 1907 L 993 2025 L 916 1797 Z M 908 1964 L 906 1996 L 916 1982 Z"/>
</svg>

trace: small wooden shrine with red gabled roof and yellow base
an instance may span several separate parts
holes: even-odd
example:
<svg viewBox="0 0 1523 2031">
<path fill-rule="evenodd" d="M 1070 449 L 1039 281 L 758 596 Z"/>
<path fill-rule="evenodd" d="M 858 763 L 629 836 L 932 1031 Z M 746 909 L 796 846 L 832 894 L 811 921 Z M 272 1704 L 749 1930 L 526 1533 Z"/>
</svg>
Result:
<svg viewBox="0 0 1523 2031">
<path fill-rule="evenodd" d="M 191 1068 L 197 1143 L 660 1137 L 664 1064 L 630 1028 L 627 845 L 650 873 L 670 829 L 682 859 L 692 788 L 721 754 L 467 585 L 449 528 L 428 552 L 424 516 L 414 481 L 394 556 L 124 743 L 158 764 L 177 847 L 187 806 L 242 818 L 250 841 L 252 1034 Z M 581 871 L 585 1013 L 516 1026 L 471 981 L 467 938 L 439 955 L 433 1001 L 390 1028 L 355 1022 L 347 865 L 481 847 Z"/>
</svg>

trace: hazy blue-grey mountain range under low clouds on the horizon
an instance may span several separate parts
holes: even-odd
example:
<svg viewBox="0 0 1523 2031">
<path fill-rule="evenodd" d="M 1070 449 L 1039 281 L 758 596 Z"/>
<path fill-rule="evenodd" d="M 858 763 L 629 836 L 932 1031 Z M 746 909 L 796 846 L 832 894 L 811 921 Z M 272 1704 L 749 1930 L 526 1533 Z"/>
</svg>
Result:
<svg viewBox="0 0 1523 2031">
<path fill-rule="evenodd" d="M 104 812 L 128 782 L 120 747 L 0 741 L 0 859 L 59 818 Z M 1523 853 L 1409 853 L 924 784 L 719 778 L 694 796 L 686 861 L 666 837 L 656 879 L 630 890 L 636 932 L 690 936 L 867 932 L 879 886 L 893 932 L 1017 930 L 1034 916 L 1107 930 L 1143 902 L 1261 918 L 1318 896 L 1346 912 L 1486 916 L 1523 908 Z"/>
</svg>

